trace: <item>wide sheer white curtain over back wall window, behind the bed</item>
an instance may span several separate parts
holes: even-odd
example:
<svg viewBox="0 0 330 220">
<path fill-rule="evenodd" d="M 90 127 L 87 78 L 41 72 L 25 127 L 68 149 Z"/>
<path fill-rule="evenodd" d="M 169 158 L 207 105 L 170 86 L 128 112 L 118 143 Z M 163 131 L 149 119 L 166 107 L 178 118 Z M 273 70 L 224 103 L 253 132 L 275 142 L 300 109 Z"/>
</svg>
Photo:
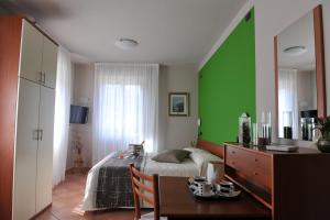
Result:
<svg viewBox="0 0 330 220">
<path fill-rule="evenodd" d="M 130 143 L 157 151 L 157 64 L 96 64 L 92 162 Z"/>
</svg>

